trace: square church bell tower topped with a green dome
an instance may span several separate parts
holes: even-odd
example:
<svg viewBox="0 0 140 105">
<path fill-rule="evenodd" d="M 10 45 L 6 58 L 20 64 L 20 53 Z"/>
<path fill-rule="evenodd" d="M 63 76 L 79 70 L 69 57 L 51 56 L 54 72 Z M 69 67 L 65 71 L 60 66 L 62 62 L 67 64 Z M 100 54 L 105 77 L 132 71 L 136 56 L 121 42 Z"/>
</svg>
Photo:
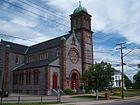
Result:
<svg viewBox="0 0 140 105">
<path fill-rule="evenodd" d="M 91 15 L 87 9 L 79 6 L 70 15 L 71 31 L 74 29 L 76 37 L 81 44 L 82 71 L 84 72 L 93 64 L 93 40 L 91 30 Z"/>
</svg>

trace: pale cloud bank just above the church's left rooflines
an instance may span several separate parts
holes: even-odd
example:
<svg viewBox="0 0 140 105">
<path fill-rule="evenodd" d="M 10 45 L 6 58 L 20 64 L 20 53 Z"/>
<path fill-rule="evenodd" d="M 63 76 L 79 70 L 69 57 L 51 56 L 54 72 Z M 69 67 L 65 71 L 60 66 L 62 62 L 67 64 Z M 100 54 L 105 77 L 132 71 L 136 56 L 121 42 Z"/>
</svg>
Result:
<svg viewBox="0 0 140 105">
<path fill-rule="evenodd" d="M 37 43 L 51 38 L 50 36 L 44 36 L 43 33 L 35 31 L 32 28 L 21 26 L 19 24 L 13 23 L 12 21 L 0 20 L 0 25 L 2 26 L 0 28 L 0 32 L 3 34 L 31 40 L 31 41 L 27 41 L 27 40 L 15 39 L 12 37 L 10 37 L 11 39 L 9 39 L 8 37 L 9 40 L 12 40 L 20 44 L 30 45 L 30 44 L 35 44 L 35 42 Z M 3 36 L 3 38 L 7 39 L 7 36 Z M 33 41 L 35 42 L 33 43 Z"/>
</svg>

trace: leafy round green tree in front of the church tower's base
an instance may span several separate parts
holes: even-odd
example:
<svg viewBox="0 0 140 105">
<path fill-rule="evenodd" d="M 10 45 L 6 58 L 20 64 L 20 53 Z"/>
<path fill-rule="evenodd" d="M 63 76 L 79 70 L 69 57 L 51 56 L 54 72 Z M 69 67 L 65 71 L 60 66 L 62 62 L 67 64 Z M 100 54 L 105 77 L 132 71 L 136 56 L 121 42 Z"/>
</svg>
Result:
<svg viewBox="0 0 140 105">
<path fill-rule="evenodd" d="M 107 62 L 96 63 L 86 70 L 83 75 L 83 81 L 86 86 L 94 89 L 103 89 L 112 86 L 112 75 L 115 69 Z"/>
</svg>

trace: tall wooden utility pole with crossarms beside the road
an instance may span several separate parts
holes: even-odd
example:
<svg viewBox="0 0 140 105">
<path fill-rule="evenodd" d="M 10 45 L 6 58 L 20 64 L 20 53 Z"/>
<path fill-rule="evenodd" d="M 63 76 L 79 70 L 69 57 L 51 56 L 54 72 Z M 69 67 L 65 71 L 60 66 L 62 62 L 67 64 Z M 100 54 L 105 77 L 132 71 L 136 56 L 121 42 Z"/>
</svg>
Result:
<svg viewBox="0 0 140 105">
<path fill-rule="evenodd" d="M 123 57 L 124 57 L 124 56 L 123 56 L 123 49 L 126 48 L 126 47 L 124 47 L 123 45 L 124 45 L 125 43 L 126 43 L 126 42 L 117 44 L 117 46 L 120 46 L 120 48 L 118 48 L 118 49 L 121 50 L 121 65 L 122 65 L 122 100 L 124 99 L 124 67 L 123 67 L 123 65 L 124 65 Z"/>
</svg>

